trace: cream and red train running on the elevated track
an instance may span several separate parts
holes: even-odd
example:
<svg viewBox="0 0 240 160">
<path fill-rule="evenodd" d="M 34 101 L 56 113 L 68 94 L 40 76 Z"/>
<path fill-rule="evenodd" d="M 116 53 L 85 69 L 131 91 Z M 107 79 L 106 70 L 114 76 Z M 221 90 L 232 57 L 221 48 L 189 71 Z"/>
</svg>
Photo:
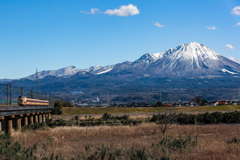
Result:
<svg viewBox="0 0 240 160">
<path fill-rule="evenodd" d="M 18 97 L 19 106 L 49 106 L 49 101 L 40 99 L 31 99 L 25 96 Z"/>
</svg>

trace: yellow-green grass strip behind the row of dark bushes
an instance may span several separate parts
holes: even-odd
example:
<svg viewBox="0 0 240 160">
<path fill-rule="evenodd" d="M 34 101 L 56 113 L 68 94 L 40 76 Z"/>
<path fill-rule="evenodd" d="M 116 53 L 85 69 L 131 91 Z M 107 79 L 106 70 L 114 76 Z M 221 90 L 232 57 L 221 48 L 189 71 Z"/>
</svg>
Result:
<svg viewBox="0 0 240 160">
<path fill-rule="evenodd" d="M 110 113 L 113 115 L 129 115 L 132 119 L 148 118 L 153 114 L 164 112 L 167 110 L 174 110 L 175 112 L 182 113 L 205 113 L 205 112 L 229 112 L 240 111 L 240 105 L 222 105 L 222 106 L 197 106 L 197 107 L 141 107 L 141 108 L 82 108 L 82 107 L 63 107 L 63 115 L 53 116 L 54 119 L 63 118 L 70 120 L 74 116 L 78 115 L 80 119 L 88 118 L 89 116 L 94 118 L 100 118 L 104 113 Z"/>
</svg>

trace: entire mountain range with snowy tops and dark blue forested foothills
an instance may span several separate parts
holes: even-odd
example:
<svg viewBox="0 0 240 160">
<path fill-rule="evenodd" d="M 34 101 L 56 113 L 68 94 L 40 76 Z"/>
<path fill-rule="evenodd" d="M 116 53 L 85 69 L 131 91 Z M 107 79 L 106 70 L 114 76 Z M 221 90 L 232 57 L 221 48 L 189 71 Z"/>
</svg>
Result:
<svg viewBox="0 0 240 160">
<path fill-rule="evenodd" d="M 12 81 L 15 86 L 34 89 L 35 77 L 33 74 L 18 80 L 5 79 L 0 82 Z M 97 65 L 87 69 L 70 66 L 38 72 L 38 77 L 41 91 L 63 95 L 74 91 L 83 91 L 94 96 L 106 93 L 135 94 L 148 92 L 150 87 L 166 92 L 176 92 L 176 88 L 206 90 L 215 87 L 215 90 L 218 90 L 240 84 L 240 64 L 203 44 L 191 42 L 164 52 L 146 53 L 134 62 L 125 61 L 109 66 Z M 192 93 L 186 91 L 184 94 Z M 211 92 L 207 94 L 212 98 L 217 96 Z M 229 96 L 233 96 L 232 94 Z"/>
</svg>

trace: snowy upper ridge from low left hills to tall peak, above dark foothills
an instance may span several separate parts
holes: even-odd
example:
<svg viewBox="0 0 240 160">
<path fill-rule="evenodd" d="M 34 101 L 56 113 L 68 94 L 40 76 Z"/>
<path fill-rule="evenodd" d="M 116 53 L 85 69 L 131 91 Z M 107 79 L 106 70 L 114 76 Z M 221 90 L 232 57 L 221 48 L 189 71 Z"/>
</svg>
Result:
<svg viewBox="0 0 240 160">
<path fill-rule="evenodd" d="M 199 76 L 240 76 L 240 64 L 221 56 L 212 49 L 197 42 L 181 44 L 155 54 L 146 53 L 134 62 L 123 62 L 109 66 L 92 66 L 77 69 L 74 66 L 59 70 L 39 72 L 39 79 L 46 76 L 68 78 L 75 75 L 130 77 L 199 77 Z M 84 74 L 83 74 L 84 72 Z M 88 73 L 88 74 L 85 74 Z M 119 76 L 121 75 L 121 76 Z M 124 76 L 123 76 L 124 75 Z M 35 80 L 35 74 L 26 77 Z"/>
</svg>

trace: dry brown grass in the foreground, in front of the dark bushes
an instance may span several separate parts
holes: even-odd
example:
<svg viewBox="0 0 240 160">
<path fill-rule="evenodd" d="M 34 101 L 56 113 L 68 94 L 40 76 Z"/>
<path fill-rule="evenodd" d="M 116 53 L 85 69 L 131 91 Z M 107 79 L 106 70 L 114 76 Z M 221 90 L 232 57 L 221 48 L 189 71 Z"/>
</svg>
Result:
<svg viewBox="0 0 240 160">
<path fill-rule="evenodd" d="M 154 133 L 156 130 L 156 134 Z M 240 159 L 240 145 L 227 144 L 232 137 L 240 139 L 240 125 L 174 125 L 166 132 L 171 139 L 186 138 L 198 135 L 198 145 L 186 150 L 167 151 L 171 159 Z M 37 157 L 50 156 L 51 153 L 62 154 L 68 159 L 78 155 L 92 155 L 104 144 L 111 149 L 121 149 L 122 159 L 129 159 L 131 147 L 140 149 L 146 147 L 149 155 L 160 158 L 163 153 L 154 150 L 152 143 L 157 144 L 163 135 L 159 125 L 155 123 L 138 126 L 98 126 L 98 127 L 57 127 L 47 130 L 14 132 L 15 137 L 23 146 L 32 147 L 37 143 Z M 85 151 L 89 144 L 90 151 Z"/>
</svg>

